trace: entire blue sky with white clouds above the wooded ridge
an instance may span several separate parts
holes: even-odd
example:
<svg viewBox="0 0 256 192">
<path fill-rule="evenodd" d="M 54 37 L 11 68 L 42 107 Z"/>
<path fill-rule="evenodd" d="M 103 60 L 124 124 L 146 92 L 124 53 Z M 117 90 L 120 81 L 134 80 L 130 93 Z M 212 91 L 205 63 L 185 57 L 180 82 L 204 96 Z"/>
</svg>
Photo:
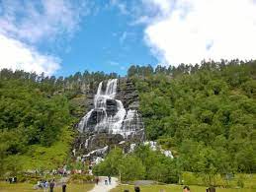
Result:
<svg viewBox="0 0 256 192">
<path fill-rule="evenodd" d="M 0 69 L 124 76 L 255 50 L 256 0 L 0 0 Z"/>
</svg>

